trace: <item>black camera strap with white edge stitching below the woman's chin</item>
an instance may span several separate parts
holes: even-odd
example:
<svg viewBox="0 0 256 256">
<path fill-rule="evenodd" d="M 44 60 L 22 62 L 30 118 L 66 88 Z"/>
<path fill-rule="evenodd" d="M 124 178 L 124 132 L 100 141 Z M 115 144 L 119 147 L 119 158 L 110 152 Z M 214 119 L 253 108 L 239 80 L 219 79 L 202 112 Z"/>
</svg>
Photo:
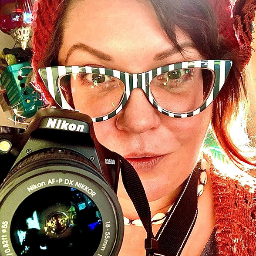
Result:
<svg viewBox="0 0 256 256">
<path fill-rule="evenodd" d="M 196 166 L 185 180 L 171 211 L 166 214 L 165 221 L 154 236 L 150 206 L 141 180 L 133 166 L 122 156 L 119 157 L 122 181 L 147 232 L 145 239 L 146 256 L 180 256 L 198 214 L 199 166 Z"/>
</svg>

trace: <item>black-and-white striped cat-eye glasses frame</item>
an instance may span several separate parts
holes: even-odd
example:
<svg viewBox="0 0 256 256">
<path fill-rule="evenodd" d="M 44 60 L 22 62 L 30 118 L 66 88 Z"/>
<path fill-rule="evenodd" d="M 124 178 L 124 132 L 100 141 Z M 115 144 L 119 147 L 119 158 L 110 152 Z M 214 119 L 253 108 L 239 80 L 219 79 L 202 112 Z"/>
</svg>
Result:
<svg viewBox="0 0 256 256">
<path fill-rule="evenodd" d="M 179 69 L 189 69 L 189 68 L 206 68 L 214 72 L 214 82 L 211 91 L 207 98 L 205 98 L 204 102 L 199 106 L 199 108 L 195 109 L 194 111 L 185 112 L 185 113 L 175 113 L 168 111 L 157 104 L 151 91 L 149 90 L 149 85 L 152 79 L 158 75 L 169 71 L 175 71 Z M 158 67 L 153 70 L 139 73 L 139 74 L 131 74 L 127 72 L 121 72 L 118 70 L 103 68 L 103 67 L 90 67 L 90 66 L 57 66 L 57 67 L 43 67 L 38 70 L 40 77 L 42 78 L 45 87 L 50 92 L 51 96 L 53 97 L 54 101 L 64 109 L 74 110 L 71 106 L 67 103 L 66 99 L 64 98 L 59 85 L 58 81 L 60 77 L 63 77 L 66 74 L 74 74 L 74 73 L 92 73 L 92 74 L 105 74 L 112 77 L 116 77 L 120 79 L 125 85 L 125 94 L 123 96 L 120 105 L 118 106 L 115 111 L 112 111 L 108 115 L 101 116 L 98 118 L 92 118 L 93 122 L 105 121 L 109 118 L 114 117 L 117 115 L 122 108 L 124 108 L 128 98 L 130 97 L 131 91 L 135 88 L 141 88 L 147 98 L 148 101 L 162 114 L 167 115 L 173 118 L 187 118 L 198 115 L 202 111 L 207 108 L 212 101 L 217 97 L 219 91 L 222 89 L 229 71 L 232 67 L 232 61 L 227 60 L 205 60 L 205 61 L 185 61 L 175 64 L 166 65 L 163 67 Z"/>
</svg>

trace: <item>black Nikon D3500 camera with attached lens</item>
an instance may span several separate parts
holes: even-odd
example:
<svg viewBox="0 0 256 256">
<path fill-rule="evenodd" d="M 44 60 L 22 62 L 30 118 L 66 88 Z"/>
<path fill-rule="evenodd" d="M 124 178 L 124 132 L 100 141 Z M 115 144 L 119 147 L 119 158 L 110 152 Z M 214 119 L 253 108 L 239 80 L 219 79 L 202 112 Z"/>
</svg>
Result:
<svg viewBox="0 0 256 256">
<path fill-rule="evenodd" d="M 3 132 L 0 256 L 118 255 L 120 160 L 97 141 L 91 118 L 44 109 L 23 133 Z"/>
</svg>

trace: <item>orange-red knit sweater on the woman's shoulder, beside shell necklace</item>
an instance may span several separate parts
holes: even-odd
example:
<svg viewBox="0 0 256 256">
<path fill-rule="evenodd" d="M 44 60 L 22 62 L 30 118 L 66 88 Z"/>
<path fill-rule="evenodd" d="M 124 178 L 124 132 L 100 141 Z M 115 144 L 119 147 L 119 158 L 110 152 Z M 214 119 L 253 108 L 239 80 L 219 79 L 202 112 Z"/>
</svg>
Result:
<svg viewBox="0 0 256 256">
<path fill-rule="evenodd" d="M 218 175 L 209 159 L 220 256 L 256 256 L 256 191 Z"/>
</svg>

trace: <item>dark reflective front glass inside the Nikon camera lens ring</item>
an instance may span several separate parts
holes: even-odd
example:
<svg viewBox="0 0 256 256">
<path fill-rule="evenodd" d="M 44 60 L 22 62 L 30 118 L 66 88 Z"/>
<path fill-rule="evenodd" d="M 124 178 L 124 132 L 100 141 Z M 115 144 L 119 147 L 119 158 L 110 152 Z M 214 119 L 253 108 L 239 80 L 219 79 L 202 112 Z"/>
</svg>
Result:
<svg viewBox="0 0 256 256">
<path fill-rule="evenodd" d="M 10 235 L 18 256 L 92 256 L 102 230 L 99 209 L 87 195 L 54 186 L 34 192 L 20 204 Z"/>
</svg>

